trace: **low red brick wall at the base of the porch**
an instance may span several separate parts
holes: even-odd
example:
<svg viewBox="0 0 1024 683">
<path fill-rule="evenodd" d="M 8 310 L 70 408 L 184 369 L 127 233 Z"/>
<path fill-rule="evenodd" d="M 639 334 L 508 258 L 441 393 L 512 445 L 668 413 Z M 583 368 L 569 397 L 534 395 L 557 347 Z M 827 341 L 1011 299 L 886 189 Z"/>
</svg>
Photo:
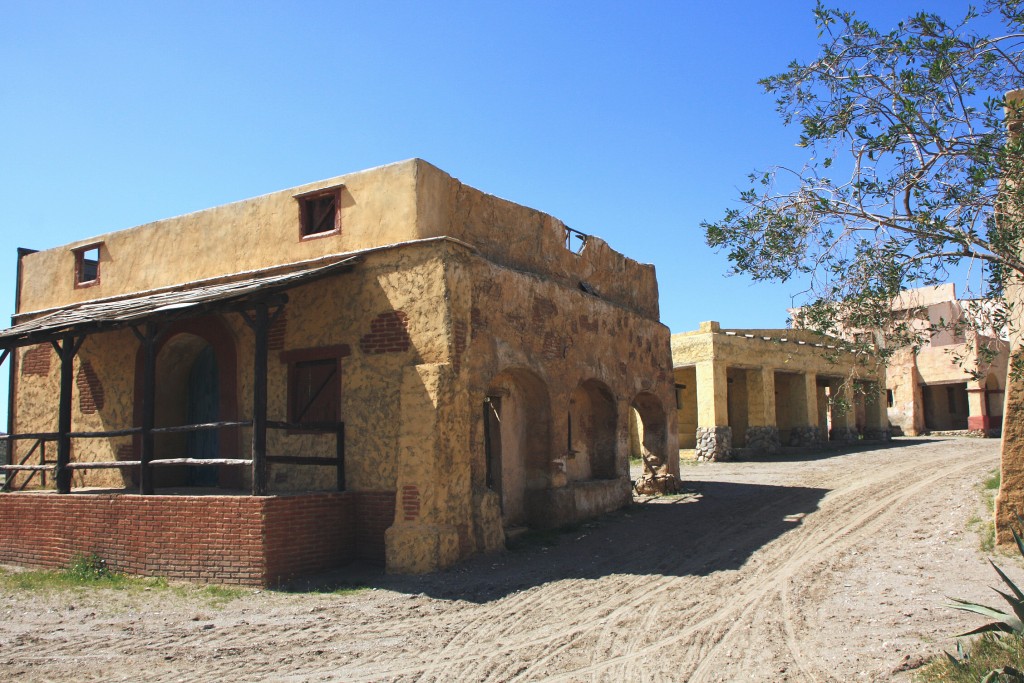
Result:
<svg viewBox="0 0 1024 683">
<path fill-rule="evenodd" d="M 265 586 L 354 557 L 383 559 L 393 519 L 393 492 L 5 494 L 0 562 L 59 567 L 95 553 L 127 573 Z"/>
</svg>

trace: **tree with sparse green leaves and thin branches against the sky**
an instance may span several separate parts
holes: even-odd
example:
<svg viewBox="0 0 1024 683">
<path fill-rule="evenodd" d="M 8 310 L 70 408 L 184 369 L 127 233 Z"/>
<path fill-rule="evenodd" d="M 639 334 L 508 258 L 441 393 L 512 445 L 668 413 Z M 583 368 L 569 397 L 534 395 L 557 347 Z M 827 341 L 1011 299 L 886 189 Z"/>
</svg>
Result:
<svg viewBox="0 0 1024 683">
<path fill-rule="evenodd" d="M 988 0 L 956 23 L 921 12 L 882 33 L 819 2 L 817 58 L 760 81 L 806 164 L 752 174 L 739 207 L 702 223 L 708 244 L 755 281 L 807 282 L 804 327 L 881 330 L 890 352 L 920 341 L 893 317 L 900 290 L 970 271 L 998 295 L 1024 279 L 1024 183 L 1008 182 L 1024 177 L 1024 148 L 1007 126 L 1024 101 L 1006 96 L 1024 87 L 1022 4 Z M 1013 315 L 989 313 L 970 322 Z"/>
</svg>

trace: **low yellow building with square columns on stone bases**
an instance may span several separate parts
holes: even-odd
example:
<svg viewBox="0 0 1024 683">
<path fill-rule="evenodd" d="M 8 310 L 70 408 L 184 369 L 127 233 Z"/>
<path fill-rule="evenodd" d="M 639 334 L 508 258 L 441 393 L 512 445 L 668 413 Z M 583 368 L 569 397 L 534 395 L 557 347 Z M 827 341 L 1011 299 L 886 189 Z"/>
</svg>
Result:
<svg viewBox="0 0 1024 683">
<path fill-rule="evenodd" d="M 885 368 L 837 340 L 701 323 L 672 335 L 672 365 L 679 446 L 698 460 L 889 438 Z"/>
</svg>

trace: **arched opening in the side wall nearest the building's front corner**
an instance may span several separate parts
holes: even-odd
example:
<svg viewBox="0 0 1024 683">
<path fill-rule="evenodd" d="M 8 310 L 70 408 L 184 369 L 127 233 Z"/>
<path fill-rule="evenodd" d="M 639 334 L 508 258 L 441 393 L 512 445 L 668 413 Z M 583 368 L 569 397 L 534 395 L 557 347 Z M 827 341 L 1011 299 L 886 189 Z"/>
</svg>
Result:
<svg viewBox="0 0 1024 683">
<path fill-rule="evenodd" d="M 487 486 L 499 495 L 502 521 L 529 519 L 528 490 L 550 485 L 551 399 L 544 380 L 510 369 L 487 386 L 483 402 Z"/>
</svg>

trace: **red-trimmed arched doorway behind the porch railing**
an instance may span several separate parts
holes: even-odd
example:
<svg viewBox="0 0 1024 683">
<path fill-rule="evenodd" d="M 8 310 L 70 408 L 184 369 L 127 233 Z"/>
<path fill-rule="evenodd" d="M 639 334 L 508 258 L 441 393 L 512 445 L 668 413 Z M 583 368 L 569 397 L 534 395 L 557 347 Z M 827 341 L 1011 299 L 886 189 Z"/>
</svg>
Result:
<svg viewBox="0 0 1024 683">
<path fill-rule="evenodd" d="M 169 326 L 157 340 L 154 422 L 175 427 L 238 419 L 234 341 L 218 317 L 182 321 Z M 135 422 L 141 423 L 144 352 L 136 358 Z M 135 451 L 140 442 L 136 439 Z M 236 428 L 176 432 L 154 436 L 154 459 L 237 458 Z M 244 473 L 238 467 L 160 466 L 154 486 L 219 486 L 239 488 Z"/>
</svg>

